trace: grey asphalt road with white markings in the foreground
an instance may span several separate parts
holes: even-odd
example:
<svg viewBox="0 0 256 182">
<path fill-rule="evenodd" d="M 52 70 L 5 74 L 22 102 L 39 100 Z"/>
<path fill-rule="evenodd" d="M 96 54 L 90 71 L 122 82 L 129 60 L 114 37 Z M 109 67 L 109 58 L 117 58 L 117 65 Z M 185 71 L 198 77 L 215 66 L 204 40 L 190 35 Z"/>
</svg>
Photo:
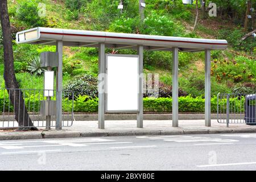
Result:
<svg viewBox="0 0 256 182">
<path fill-rule="evenodd" d="M 256 170 L 256 134 L 0 141 L 0 170 Z"/>
</svg>

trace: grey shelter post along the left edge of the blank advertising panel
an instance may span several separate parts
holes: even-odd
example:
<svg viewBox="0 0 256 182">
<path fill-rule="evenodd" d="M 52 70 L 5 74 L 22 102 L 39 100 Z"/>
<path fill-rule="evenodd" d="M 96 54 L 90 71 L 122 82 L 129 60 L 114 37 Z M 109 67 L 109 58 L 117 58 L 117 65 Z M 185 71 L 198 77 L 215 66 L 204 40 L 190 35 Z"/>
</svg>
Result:
<svg viewBox="0 0 256 182">
<path fill-rule="evenodd" d="M 100 43 L 98 47 L 98 128 L 105 128 L 105 81 L 106 61 L 105 44 Z"/>
</svg>

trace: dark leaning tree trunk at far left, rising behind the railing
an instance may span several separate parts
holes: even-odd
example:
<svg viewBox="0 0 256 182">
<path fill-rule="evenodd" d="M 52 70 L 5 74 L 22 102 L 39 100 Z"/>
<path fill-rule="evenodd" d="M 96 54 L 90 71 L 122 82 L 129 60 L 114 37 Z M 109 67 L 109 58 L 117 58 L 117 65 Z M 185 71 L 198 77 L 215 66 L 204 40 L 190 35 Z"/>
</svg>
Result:
<svg viewBox="0 0 256 182">
<path fill-rule="evenodd" d="M 3 78 L 5 79 L 5 87 L 9 93 L 11 104 L 14 106 L 15 119 L 18 122 L 19 129 L 37 130 L 28 115 L 24 104 L 23 93 L 19 90 L 19 85 L 14 73 L 13 43 L 7 10 L 7 0 L 0 0 L 0 19 L 3 34 L 3 61 L 5 68 Z"/>
</svg>

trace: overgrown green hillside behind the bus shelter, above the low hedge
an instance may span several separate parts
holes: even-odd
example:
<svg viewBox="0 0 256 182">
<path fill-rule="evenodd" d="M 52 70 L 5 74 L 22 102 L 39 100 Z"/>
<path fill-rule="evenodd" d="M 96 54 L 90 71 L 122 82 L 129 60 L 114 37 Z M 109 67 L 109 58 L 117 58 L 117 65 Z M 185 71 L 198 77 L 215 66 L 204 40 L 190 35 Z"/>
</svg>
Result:
<svg viewBox="0 0 256 182">
<path fill-rule="evenodd" d="M 10 0 L 9 15 L 13 38 L 17 31 L 42 26 L 226 39 L 229 43 L 228 49 L 212 51 L 212 94 L 216 95 L 218 92 L 255 93 L 256 42 L 253 36 L 241 42 L 242 36 L 251 31 L 251 26 L 253 26 L 253 23 L 249 23 L 247 30 L 243 29 L 246 4 L 244 1 L 232 1 L 232 6 L 230 6 L 220 0 L 212 2 L 218 6 L 218 16 L 209 17 L 206 14 L 206 17 L 203 17 L 200 13 L 195 31 L 192 31 L 192 28 L 196 17 L 196 6 L 183 5 L 181 0 L 147 0 L 144 20 L 139 17 L 138 0 L 123 0 L 122 12 L 117 9 L 119 0 Z M 39 16 L 38 11 L 44 5 L 46 16 Z M 235 13 L 225 13 L 228 8 Z M 3 75 L 1 40 L 0 73 Z M 36 64 L 36 60 L 41 52 L 55 51 L 55 47 L 15 43 L 13 47 L 15 72 L 20 87 L 43 89 L 41 73 L 43 68 Z M 77 96 L 82 94 L 97 97 L 97 51 L 96 48 L 64 48 L 64 88 L 75 91 Z M 135 54 L 135 51 L 122 49 L 107 49 L 106 52 Z M 171 96 L 171 58 L 171 52 L 144 51 L 144 73 L 159 74 L 160 97 Z M 2 76 L 0 84 L 1 88 L 5 87 Z M 78 87 L 80 89 L 77 89 Z M 204 95 L 204 52 L 179 53 L 179 87 L 180 96 L 191 95 L 195 98 Z M 146 96 L 148 95 L 145 94 Z"/>
</svg>

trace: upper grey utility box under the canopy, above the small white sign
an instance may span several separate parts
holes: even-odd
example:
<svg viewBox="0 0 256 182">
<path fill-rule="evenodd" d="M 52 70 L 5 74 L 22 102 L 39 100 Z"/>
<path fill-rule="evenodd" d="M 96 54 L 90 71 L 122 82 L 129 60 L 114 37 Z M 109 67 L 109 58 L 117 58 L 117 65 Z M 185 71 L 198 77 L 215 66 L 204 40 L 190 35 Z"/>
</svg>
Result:
<svg viewBox="0 0 256 182">
<path fill-rule="evenodd" d="M 59 53 L 57 52 L 42 52 L 40 54 L 42 67 L 58 67 Z"/>
</svg>

